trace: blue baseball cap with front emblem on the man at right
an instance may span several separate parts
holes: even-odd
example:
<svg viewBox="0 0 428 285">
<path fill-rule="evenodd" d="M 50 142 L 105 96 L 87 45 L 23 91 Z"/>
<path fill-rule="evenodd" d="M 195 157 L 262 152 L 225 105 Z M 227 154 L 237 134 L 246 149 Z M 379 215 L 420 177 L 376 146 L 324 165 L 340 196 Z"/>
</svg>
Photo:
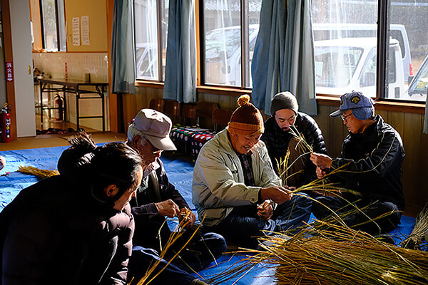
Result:
<svg viewBox="0 0 428 285">
<path fill-rule="evenodd" d="M 352 91 L 340 96 L 340 108 L 330 114 L 330 117 L 337 117 L 345 113 L 347 110 L 352 110 L 352 114 L 358 120 L 367 120 L 373 115 L 374 102 L 372 98 L 363 95 L 359 91 Z"/>
</svg>

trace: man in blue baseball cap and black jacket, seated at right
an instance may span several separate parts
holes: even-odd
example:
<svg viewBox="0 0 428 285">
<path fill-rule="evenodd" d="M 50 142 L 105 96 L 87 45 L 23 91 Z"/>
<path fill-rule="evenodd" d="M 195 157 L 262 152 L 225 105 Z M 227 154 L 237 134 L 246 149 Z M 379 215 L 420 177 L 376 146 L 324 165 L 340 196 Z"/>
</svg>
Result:
<svg viewBox="0 0 428 285">
<path fill-rule="evenodd" d="M 313 214 L 318 219 L 332 211 L 343 214 L 355 209 L 351 202 L 360 211 L 345 216 L 349 227 L 373 235 L 395 229 L 404 210 L 402 138 L 380 115 L 374 114 L 373 100 L 361 92 L 342 95 L 339 110 L 330 116 L 340 116 L 349 132 L 343 141 L 342 156 L 331 158 L 312 153 L 310 159 L 317 166 L 318 178 L 327 175 L 344 191 L 339 197 L 318 197 L 320 203 L 313 204 Z M 342 168 L 338 172 L 329 175 L 339 167 Z"/>
</svg>

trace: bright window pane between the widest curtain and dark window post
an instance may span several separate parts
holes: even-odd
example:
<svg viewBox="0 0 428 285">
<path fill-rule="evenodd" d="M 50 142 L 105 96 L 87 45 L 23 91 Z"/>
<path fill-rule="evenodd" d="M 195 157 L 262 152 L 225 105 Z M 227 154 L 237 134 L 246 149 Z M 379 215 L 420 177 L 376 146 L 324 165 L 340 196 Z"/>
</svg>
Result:
<svg viewBox="0 0 428 285">
<path fill-rule="evenodd" d="M 317 93 L 376 96 L 376 23 L 377 1 L 312 2 Z"/>
</svg>

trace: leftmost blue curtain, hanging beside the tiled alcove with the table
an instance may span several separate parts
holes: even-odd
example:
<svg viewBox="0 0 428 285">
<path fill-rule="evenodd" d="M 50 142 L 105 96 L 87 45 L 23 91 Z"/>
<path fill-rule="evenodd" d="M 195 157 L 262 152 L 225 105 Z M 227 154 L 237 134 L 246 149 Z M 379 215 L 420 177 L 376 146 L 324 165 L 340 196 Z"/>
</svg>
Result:
<svg viewBox="0 0 428 285">
<path fill-rule="evenodd" d="M 116 0 L 111 35 L 111 93 L 136 93 L 133 0 Z"/>
</svg>

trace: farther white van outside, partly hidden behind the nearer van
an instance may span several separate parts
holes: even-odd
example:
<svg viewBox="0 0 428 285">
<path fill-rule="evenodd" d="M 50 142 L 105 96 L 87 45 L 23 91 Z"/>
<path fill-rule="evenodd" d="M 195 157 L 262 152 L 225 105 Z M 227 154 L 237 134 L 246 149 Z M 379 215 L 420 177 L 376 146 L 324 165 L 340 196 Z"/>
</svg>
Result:
<svg viewBox="0 0 428 285">
<path fill-rule="evenodd" d="M 312 24 L 312 30 L 314 41 L 335 38 L 375 38 L 377 36 L 377 24 Z M 406 28 L 401 24 L 390 24 L 389 37 L 395 38 L 401 48 L 404 82 L 407 83 L 409 76 L 413 76 L 413 72 Z"/>
</svg>

